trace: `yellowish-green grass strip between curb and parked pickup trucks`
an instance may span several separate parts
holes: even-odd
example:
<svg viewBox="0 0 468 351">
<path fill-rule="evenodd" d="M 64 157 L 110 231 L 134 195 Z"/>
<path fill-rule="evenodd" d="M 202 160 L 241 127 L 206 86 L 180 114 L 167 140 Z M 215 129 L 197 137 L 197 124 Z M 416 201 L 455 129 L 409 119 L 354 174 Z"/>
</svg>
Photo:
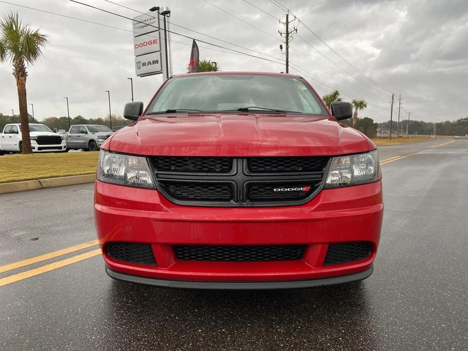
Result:
<svg viewBox="0 0 468 351">
<path fill-rule="evenodd" d="M 96 172 L 99 152 L 0 156 L 0 183 Z"/>
</svg>

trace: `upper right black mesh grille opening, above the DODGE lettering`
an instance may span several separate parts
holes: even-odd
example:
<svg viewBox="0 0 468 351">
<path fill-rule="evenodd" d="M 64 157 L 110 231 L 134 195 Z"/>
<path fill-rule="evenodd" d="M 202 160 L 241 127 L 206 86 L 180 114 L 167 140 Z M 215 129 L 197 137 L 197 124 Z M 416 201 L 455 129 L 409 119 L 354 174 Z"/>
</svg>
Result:
<svg viewBox="0 0 468 351">
<path fill-rule="evenodd" d="M 247 167 L 251 173 L 321 172 L 327 157 L 249 157 Z"/>
</svg>

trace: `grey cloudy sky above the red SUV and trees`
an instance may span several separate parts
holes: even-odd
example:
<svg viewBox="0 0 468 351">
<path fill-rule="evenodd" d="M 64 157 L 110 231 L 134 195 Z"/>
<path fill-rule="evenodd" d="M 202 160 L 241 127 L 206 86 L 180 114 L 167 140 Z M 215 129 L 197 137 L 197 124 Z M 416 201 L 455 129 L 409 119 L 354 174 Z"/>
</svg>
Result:
<svg viewBox="0 0 468 351">
<path fill-rule="evenodd" d="M 160 4 L 112 0 L 135 11 L 106 0 L 79 1 L 126 17 L 155 5 L 168 6 L 173 31 L 280 62 L 198 42 L 200 57 L 218 62 L 224 71 L 284 71 L 278 34 L 284 26 L 278 19 L 284 21 L 286 7 L 292 13 L 290 19 L 297 17 L 291 24 L 297 35 L 291 42 L 289 71 L 304 76 L 319 94 L 336 87 L 345 100 L 363 99 L 369 106 L 360 115 L 379 122 L 390 119 L 392 92 L 397 99 L 401 94 L 405 118 L 406 112 L 424 121 L 468 116 L 466 0 L 166 0 Z M 24 22 L 49 35 L 44 58 L 28 68 L 28 103 L 34 104 L 38 119 L 66 115 L 65 96 L 72 117 L 105 117 L 106 90 L 111 94 L 112 113 L 121 115 L 131 98 L 127 77 L 134 78 L 135 100 L 145 104 L 161 84 L 161 75 L 135 76 L 129 20 L 68 0 L 0 1 L 0 16 L 10 11 L 17 11 Z M 171 39 L 173 73 L 183 73 L 191 39 L 176 34 Z M 17 114 L 16 84 L 5 63 L 0 64 L 0 89 L 0 112 L 11 114 L 14 109 Z M 398 102 L 394 111 L 398 113 Z"/>
</svg>

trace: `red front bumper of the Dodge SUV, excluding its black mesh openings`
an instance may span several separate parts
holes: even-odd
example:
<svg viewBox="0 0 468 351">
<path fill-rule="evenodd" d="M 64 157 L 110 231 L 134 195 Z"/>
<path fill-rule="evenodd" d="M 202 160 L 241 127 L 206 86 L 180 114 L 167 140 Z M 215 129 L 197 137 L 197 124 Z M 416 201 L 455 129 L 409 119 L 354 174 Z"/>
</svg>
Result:
<svg viewBox="0 0 468 351">
<path fill-rule="evenodd" d="M 307 287 L 364 279 L 372 273 L 382 215 L 380 181 L 323 190 L 301 206 L 248 208 L 179 206 L 156 190 L 99 181 L 95 186 L 96 229 L 109 275 L 157 286 Z M 370 256 L 323 265 L 329 243 L 352 241 L 370 242 Z M 151 244 L 157 267 L 110 258 L 105 250 L 109 242 Z M 300 260 L 212 262 L 178 260 L 173 248 L 177 244 L 305 244 L 307 248 Z M 258 282 L 264 284 L 253 284 Z"/>
</svg>

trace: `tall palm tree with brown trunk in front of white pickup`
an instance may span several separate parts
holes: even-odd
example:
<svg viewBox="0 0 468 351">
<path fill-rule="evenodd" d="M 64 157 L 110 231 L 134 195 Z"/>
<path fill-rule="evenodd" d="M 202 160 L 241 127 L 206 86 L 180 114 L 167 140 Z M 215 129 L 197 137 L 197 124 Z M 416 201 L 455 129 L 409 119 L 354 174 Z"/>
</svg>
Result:
<svg viewBox="0 0 468 351">
<path fill-rule="evenodd" d="M 32 29 L 29 24 L 23 25 L 17 13 L 12 12 L 0 20 L 0 62 L 13 65 L 18 89 L 23 154 L 32 153 L 26 99 L 26 64 L 32 65 L 42 56 L 42 48 L 47 42 L 47 35 Z"/>
</svg>

